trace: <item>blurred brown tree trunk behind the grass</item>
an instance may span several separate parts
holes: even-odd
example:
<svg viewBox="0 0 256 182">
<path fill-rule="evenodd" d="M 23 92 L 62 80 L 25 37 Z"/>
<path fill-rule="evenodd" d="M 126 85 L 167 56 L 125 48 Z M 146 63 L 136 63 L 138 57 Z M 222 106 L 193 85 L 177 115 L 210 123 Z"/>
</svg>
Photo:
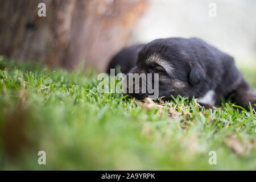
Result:
<svg viewBox="0 0 256 182">
<path fill-rule="evenodd" d="M 0 54 L 50 67 L 104 71 L 147 0 L 0 0 Z M 46 17 L 38 4 L 46 4 Z"/>
</svg>

